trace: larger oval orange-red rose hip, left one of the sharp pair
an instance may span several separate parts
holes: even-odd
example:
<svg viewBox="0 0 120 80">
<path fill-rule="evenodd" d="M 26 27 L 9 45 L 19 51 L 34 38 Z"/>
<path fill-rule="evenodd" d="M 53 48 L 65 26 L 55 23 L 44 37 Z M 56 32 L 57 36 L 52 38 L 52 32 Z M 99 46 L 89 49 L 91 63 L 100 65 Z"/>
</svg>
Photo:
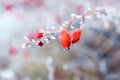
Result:
<svg viewBox="0 0 120 80">
<path fill-rule="evenodd" d="M 70 48 L 71 36 L 65 29 L 62 29 L 59 33 L 59 42 L 63 48 L 65 49 Z"/>
</svg>

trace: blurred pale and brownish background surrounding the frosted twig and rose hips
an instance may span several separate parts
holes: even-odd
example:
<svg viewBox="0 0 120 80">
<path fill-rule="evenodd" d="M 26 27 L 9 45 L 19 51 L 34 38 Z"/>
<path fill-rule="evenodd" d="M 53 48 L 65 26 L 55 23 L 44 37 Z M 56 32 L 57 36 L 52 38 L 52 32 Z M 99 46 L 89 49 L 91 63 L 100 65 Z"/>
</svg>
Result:
<svg viewBox="0 0 120 80">
<path fill-rule="evenodd" d="M 120 0 L 0 0 L 0 80 L 120 80 Z M 81 40 L 64 51 L 58 40 L 22 48 L 24 36 L 58 28 L 71 13 L 107 7 L 85 20 Z M 112 15 L 112 16 L 111 16 Z M 77 26 L 77 25 L 76 25 Z"/>
</svg>

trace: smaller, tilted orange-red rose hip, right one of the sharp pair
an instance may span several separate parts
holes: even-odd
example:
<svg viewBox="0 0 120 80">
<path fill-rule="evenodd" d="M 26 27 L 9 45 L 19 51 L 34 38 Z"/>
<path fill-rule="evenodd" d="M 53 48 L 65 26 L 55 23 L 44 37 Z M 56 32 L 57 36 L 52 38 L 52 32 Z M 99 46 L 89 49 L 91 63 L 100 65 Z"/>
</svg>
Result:
<svg viewBox="0 0 120 80">
<path fill-rule="evenodd" d="M 71 33 L 71 42 L 76 43 L 80 40 L 81 37 L 81 29 L 75 30 Z"/>
</svg>

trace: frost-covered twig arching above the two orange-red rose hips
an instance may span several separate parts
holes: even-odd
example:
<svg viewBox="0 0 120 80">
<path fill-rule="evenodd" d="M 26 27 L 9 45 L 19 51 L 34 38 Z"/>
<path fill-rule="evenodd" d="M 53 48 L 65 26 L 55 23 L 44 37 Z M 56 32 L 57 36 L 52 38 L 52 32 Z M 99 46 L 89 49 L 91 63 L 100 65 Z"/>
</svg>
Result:
<svg viewBox="0 0 120 80">
<path fill-rule="evenodd" d="M 77 27 L 82 29 L 83 27 L 85 27 L 85 24 L 86 24 L 85 21 L 87 19 L 92 19 L 92 18 L 98 18 L 101 20 L 110 20 L 114 22 L 116 25 L 120 24 L 119 23 L 120 12 L 114 8 L 97 7 L 95 9 L 88 9 L 84 15 L 77 15 L 72 13 L 71 18 L 68 21 L 64 21 L 59 28 L 56 28 L 55 26 L 53 26 L 53 27 L 46 27 L 46 29 L 44 30 L 40 30 L 42 31 L 43 35 L 41 38 L 37 40 L 34 38 L 29 38 L 25 36 L 24 39 L 26 40 L 26 42 L 22 45 L 22 47 L 23 48 L 31 47 L 32 45 L 43 46 L 43 44 L 49 43 L 51 40 L 57 39 L 57 34 L 62 28 L 66 30 L 68 28 L 75 29 L 75 26 L 73 26 L 72 24 L 79 19 L 79 22 L 77 23 L 79 25 Z M 38 45 L 39 43 L 40 45 Z"/>
</svg>

